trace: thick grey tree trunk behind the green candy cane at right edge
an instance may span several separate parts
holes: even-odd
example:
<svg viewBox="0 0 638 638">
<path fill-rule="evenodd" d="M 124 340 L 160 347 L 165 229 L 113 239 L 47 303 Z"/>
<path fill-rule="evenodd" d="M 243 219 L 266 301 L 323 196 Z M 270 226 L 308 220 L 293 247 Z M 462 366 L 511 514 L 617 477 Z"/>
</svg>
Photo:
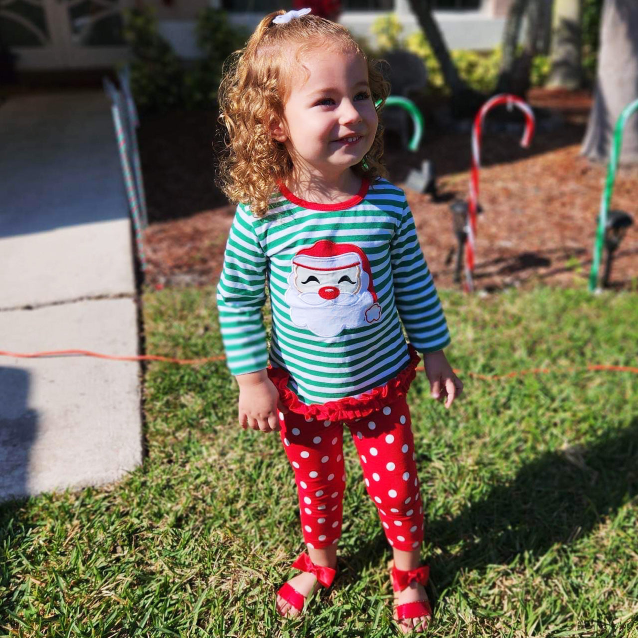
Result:
<svg viewBox="0 0 638 638">
<path fill-rule="evenodd" d="M 594 103 L 581 152 L 609 161 L 616 121 L 638 99 L 638 2 L 605 0 L 600 17 L 600 51 Z M 627 120 L 621 163 L 638 163 L 638 114 Z"/>
</svg>

